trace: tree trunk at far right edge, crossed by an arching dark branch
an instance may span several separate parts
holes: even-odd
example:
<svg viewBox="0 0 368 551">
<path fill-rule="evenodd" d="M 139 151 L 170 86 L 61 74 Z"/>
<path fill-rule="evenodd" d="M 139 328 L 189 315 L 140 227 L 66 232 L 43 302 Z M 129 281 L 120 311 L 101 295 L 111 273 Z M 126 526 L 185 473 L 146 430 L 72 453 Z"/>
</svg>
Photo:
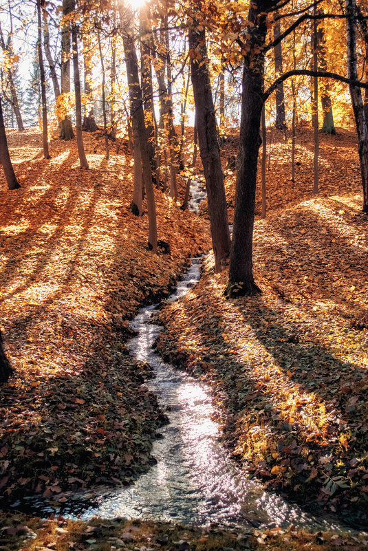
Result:
<svg viewBox="0 0 368 551">
<path fill-rule="evenodd" d="M 359 80 L 356 61 L 356 2 L 355 0 L 345 0 L 345 6 L 347 11 L 347 76 L 353 80 Z M 358 151 L 363 188 L 362 210 L 368 214 L 368 125 L 365 120 L 360 88 L 350 84 L 349 91 L 354 111 L 356 133 L 358 134 Z"/>
</svg>

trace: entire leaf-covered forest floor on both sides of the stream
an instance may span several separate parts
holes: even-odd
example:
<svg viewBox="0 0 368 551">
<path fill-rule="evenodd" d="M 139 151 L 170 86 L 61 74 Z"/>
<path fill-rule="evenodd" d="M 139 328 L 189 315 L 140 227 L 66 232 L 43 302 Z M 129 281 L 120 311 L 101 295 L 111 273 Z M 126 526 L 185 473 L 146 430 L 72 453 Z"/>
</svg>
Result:
<svg viewBox="0 0 368 551">
<path fill-rule="evenodd" d="M 226 442 L 250 475 L 332 511 L 354 507 L 363 522 L 367 218 L 360 213 L 356 140 L 348 131 L 321 136 L 321 193 L 312 197 L 312 133 L 297 138 L 295 184 L 290 143 L 272 135 L 269 214 L 255 229 L 262 296 L 226 301 L 226 272 L 214 274 L 208 257 L 199 285 L 162 311 L 160 348 L 210 383 Z M 1 389 L 0 486 L 10 501 L 41 493 L 62 502 L 76 488 L 127 484 L 149 468 L 151 441 L 165 417 L 141 385 L 149 368 L 125 348 L 128 320 L 140 304 L 164 299 L 186 259 L 210 248 L 206 206 L 202 217 L 183 213 L 158 191 L 159 239 L 169 242 L 171 255 L 154 255 L 147 250 L 147 216 L 129 210 L 127 149 L 106 162 L 102 138 L 87 135 L 91 169 L 80 171 L 75 142 L 54 140 L 45 161 L 38 133 L 11 133 L 9 141 L 22 188 L 0 195 L 1 329 L 16 371 Z M 224 147 L 224 167 L 236 153 L 234 138 Z M 225 174 L 231 220 L 235 171 Z M 257 197 L 257 210 L 259 204 Z M 31 551 L 109 551 L 120 547 L 117 537 L 121 547 L 142 550 L 184 550 L 188 539 L 197 551 L 367 545 L 294 528 L 253 530 L 246 540 L 220 530 L 213 540 L 212 532 L 136 523 L 141 528 L 132 539 L 121 535 L 130 528 L 116 523 L 93 531 L 21 514 L 5 515 L 2 523 L 12 528 L 1 531 L 0 549 Z M 36 539 L 17 532 L 24 524 Z M 147 531 L 151 539 L 142 536 Z M 167 542 L 156 537 L 160 532 L 169 534 Z"/>
</svg>

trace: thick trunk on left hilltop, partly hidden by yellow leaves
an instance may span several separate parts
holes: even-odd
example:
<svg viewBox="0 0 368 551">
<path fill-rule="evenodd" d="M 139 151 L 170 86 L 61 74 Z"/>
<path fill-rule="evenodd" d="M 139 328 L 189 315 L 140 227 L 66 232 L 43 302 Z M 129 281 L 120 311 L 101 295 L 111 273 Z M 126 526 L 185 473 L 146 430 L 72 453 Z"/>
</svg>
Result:
<svg viewBox="0 0 368 551">
<path fill-rule="evenodd" d="M 74 9 L 74 0 L 63 0 L 63 26 L 61 28 L 61 96 L 56 101 L 65 110 L 65 96 L 70 93 L 70 21 L 69 14 Z M 63 114 L 60 124 L 60 137 L 67 141 L 74 138 L 72 119 Z"/>
</svg>

